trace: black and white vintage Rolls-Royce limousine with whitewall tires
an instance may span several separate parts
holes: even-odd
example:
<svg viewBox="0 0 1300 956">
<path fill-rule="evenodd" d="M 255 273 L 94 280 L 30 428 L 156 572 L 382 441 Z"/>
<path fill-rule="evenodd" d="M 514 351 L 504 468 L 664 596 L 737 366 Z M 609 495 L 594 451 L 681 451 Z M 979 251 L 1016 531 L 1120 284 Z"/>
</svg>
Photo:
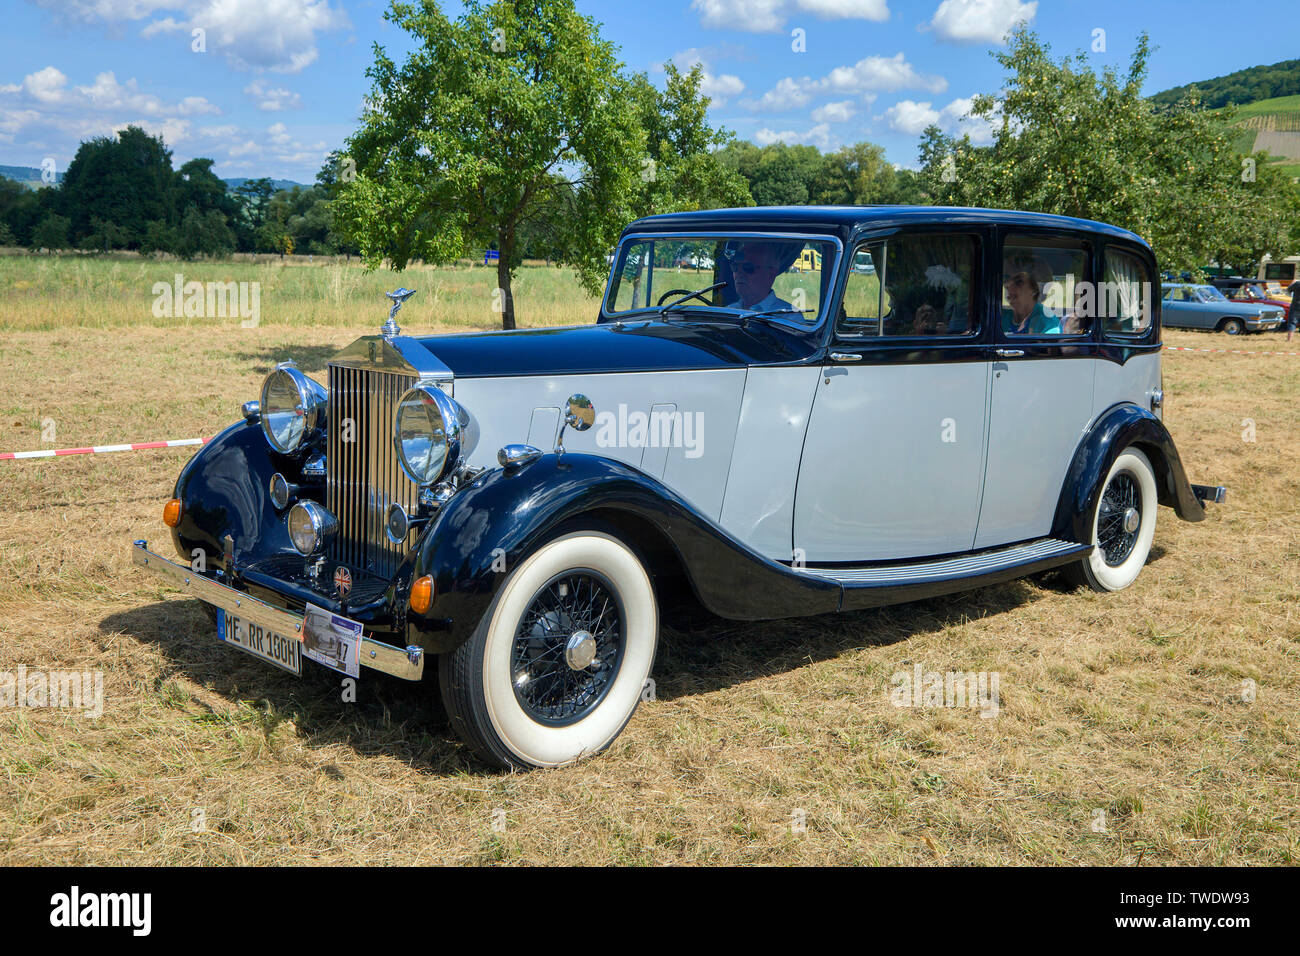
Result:
<svg viewBox="0 0 1300 956">
<path fill-rule="evenodd" d="M 1139 237 L 1046 215 L 644 219 L 593 323 L 406 334 L 402 289 L 324 382 L 277 365 L 181 472 L 181 562 L 134 561 L 291 671 L 304 609 L 352 622 L 361 667 L 437 670 L 486 761 L 568 763 L 649 696 L 684 594 L 759 620 L 1132 584 L 1158 506 L 1223 498 L 1161 421 L 1156 276 Z"/>
</svg>

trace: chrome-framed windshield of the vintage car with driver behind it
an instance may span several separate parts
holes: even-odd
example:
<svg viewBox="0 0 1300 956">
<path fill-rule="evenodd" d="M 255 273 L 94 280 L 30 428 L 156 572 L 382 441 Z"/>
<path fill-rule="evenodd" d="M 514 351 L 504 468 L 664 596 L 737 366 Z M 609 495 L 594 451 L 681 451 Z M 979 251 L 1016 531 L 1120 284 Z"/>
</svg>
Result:
<svg viewBox="0 0 1300 956">
<path fill-rule="evenodd" d="M 835 254 L 832 239 L 629 238 L 615 259 L 604 311 L 668 308 L 670 315 L 688 319 L 729 312 L 815 325 L 829 297 Z"/>
</svg>

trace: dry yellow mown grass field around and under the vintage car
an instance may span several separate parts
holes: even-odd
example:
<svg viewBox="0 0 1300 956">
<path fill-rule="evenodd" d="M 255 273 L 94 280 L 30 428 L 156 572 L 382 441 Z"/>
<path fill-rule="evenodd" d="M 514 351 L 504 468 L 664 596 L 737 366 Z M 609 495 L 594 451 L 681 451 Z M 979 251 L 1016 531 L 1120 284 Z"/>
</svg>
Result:
<svg viewBox="0 0 1300 956">
<path fill-rule="evenodd" d="M 318 373 L 372 333 L 398 284 L 257 268 L 220 277 L 292 297 L 264 289 L 243 329 L 150 315 L 150 284 L 190 265 L 0 263 L 0 450 L 212 434 L 276 360 Z M 399 281 L 421 289 L 403 325 L 494 319 L 484 269 Z M 554 269 L 519 303 L 534 324 L 594 310 Z M 0 709 L 0 865 L 1294 864 L 1300 356 L 1169 352 L 1165 381 L 1192 480 L 1228 501 L 1200 524 L 1162 510 L 1130 591 L 1022 580 L 844 617 L 675 618 L 656 700 L 606 754 L 533 774 L 476 762 L 436 692 L 363 674 L 344 704 L 320 669 L 218 646 L 196 602 L 135 570 L 133 538 L 170 548 L 160 510 L 188 449 L 0 462 L 0 671 L 100 670 L 105 698 L 98 719 Z M 914 665 L 997 672 L 998 715 L 892 706 Z"/>
</svg>

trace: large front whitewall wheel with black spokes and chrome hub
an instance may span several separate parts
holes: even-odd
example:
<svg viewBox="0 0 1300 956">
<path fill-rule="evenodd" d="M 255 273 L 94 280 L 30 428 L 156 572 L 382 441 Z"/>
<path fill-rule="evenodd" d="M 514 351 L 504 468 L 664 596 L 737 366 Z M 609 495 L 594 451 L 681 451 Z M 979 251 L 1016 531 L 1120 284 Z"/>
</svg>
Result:
<svg viewBox="0 0 1300 956">
<path fill-rule="evenodd" d="M 654 587 L 632 549 L 598 531 L 564 535 L 525 558 L 473 636 L 439 657 L 443 704 L 489 762 L 572 763 L 627 726 L 658 636 Z"/>
</svg>

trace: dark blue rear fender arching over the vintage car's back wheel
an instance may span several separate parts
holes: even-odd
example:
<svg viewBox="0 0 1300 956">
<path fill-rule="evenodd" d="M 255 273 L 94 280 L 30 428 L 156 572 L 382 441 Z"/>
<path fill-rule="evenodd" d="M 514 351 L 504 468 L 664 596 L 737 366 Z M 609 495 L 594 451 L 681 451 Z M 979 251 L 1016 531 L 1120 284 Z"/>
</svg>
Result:
<svg viewBox="0 0 1300 956">
<path fill-rule="evenodd" d="M 1057 503 L 1052 536 L 1087 544 L 1092 515 L 1110 466 L 1130 445 L 1136 445 L 1156 471 L 1160 503 L 1173 507 L 1184 522 L 1200 522 L 1205 507 L 1192 492 L 1183 462 L 1165 423 L 1138 405 L 1117 405 L 1104 411 L 1074 453 Z"/>
</svg>

